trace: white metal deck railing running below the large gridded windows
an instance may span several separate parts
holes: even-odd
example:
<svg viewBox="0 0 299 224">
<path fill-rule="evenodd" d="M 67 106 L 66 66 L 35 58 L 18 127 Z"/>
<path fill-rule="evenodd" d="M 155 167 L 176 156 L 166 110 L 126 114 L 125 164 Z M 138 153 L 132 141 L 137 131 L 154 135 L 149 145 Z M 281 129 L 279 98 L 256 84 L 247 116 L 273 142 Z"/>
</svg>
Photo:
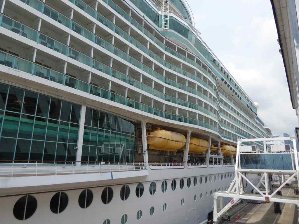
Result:
<svg viewBox="0 0 299 224">
<path fill-rule="evenodd" d="M 0 163 L 0 177 L 89 174 L 146 170 L 145 163 Z"/>
</svg>

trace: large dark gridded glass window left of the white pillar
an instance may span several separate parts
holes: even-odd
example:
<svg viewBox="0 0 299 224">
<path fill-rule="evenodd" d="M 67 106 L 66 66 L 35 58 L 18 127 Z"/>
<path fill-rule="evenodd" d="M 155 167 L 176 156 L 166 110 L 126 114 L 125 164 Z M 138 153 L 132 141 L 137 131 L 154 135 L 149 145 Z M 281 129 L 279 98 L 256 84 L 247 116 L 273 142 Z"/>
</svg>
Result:
<svg viewBox="0 0 299 224">
<path fill-rule="evenodd" d="M 1 160 L 76 161 L 80 105 L 4 84 L 0 95 Z"/>
</svg>

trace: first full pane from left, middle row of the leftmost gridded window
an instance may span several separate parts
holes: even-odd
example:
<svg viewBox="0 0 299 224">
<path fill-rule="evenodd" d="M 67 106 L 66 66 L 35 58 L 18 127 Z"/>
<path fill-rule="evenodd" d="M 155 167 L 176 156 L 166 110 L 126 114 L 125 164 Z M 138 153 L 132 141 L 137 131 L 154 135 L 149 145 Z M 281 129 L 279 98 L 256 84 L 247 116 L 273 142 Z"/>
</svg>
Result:
<svg viewBox="0 0 299 224">
<path fill-rule="evenodd" d="M 2 136 L 16 137 L 19 128 L 20 114 L 6 111 L 2 127 Z"/>
</svg>

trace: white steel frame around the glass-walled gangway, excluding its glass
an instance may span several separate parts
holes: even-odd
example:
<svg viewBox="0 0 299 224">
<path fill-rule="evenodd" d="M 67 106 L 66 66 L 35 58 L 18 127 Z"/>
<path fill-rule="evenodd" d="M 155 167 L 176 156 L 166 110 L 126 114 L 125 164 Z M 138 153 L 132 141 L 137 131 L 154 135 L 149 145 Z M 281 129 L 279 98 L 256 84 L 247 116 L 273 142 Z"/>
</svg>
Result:
<svg viewBox="0 0 299 224">
<path fill-rule="evenodd" d="M 290 154 L 290 158 L 292 159 L 292 164 L 290 167 L 293 169 L 284 170 L 284 169 L 277 169 L 277 167 L 271 167 L 272 169 L 262 169 L 260 166 L 254 168 L 242 168 L 241 161 L 240 161 L 240 146 L 243 142 L 263 142 L 263 145 L 266 144 L 281 144 L 279 141 L 284 140 L 291 140 L 294 145 L 294 151 L 292 152 L 285 152 L 285 154 Z M 264 152 L 258 152 L 257 154 L 275 154 L 275 152 L 269 153 L 267 148 L 264 149 Z M 248 154 L 248 153 L 246 153 Z M 284 154 L 284 153 L 280 153 Z M 254 155 L 254 153 L 252 153 Z M 265 156 L 266 157 L 266 156 Z M 293 164 L 293 160 L 295 163 Z M 222 217 L 227 216 L 227 211 L 235 205 L 241 199 L 248 199 L 248 200 L 257 200 L 257 201 L 266 201 L 266 202 L 282 202 L 282 203 L 292 203 L 296 204 L 299 207 L 299 198 L 294 197 L 283 197 L 277 196 L 276 193 L 281 188 L 283 188 L 287 183 L 289 183 L 293 178 L 296 179 L 296 182 L 299 186 L 299 162 L 298 162 L 298 152 L 296 147 L 296 138 L 289 136 L 289 137 L 280 137 L 280 138 L 260 138 L 260 139 L 238 139 L 237 144 L 237 156 L 236 156 L 236 163 L 235 163 L 235 177 L 231 182 L 227 191 L 218 191 L 213 194 L 213 222 L 219 222 L 219 219 Z M 260 168 L 260 169 L 259 169 Z M 257 184 L 252 183 L 245 174 L 259 174 L 260 180 Z M 288 174 L 289 178 L 283 178 L 280 182 L 279 187 L 274 191 L 271 192 L 271 181 L 269 175 L 271 174 L 279 174 L 284 176 L 284 174 Z M 248 194 L 245 193 L 242 185 L 242 179 L 245 180 L 252 188 L 257 192 L 257 194 Z M 265 191 L 262 189 L 260 190 L 259 187 L 263 185 Z M 264 191 L 264 192 L 262 192 Z M 227 205 L 223 207 L 223 198 L 233 198 Z M 218 198 L 220 199 L 220 206 L 218 207 Z"/>
</svg>

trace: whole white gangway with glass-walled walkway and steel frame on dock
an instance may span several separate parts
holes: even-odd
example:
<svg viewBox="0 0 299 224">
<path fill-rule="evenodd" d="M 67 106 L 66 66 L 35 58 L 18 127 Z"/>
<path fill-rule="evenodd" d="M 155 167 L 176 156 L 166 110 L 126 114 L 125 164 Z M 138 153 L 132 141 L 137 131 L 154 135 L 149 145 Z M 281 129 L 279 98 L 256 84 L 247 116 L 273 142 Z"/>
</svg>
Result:
<svg viewBox="0 0 299 224">
<path fill-rule="evenodd" d="M 284 140 L 291 140 L 294 150 L 290 145 L 284 145 L 282 143 Z M 252 144 L 253 142 L 263 145 L 264 149 L 261 150 L 257 145 Z M 299 198 L 277 195 L 277 192 L 287 183 L 294 182 L 299 186 L 298 172 L 295 137 L 238 139 L 235 177 L 227 191 L 218 191 L 213 194 L 214 223 L 227 219 L 228 210 L 241 199 L 255 202 L 292 203 L 299 207 Z M 250 181 L 251 178 L 247 178 L 248 175 L 257 175 L 259 181 Z M 272 177 L 275 183 L 278 183 L 276 190 L 271 187 Z M 253 190 L 245 192 L 243 181 L 246 181 Z M 224 198 L 232 198 L 232 200 L 224 206 Z"/>
</svg>

